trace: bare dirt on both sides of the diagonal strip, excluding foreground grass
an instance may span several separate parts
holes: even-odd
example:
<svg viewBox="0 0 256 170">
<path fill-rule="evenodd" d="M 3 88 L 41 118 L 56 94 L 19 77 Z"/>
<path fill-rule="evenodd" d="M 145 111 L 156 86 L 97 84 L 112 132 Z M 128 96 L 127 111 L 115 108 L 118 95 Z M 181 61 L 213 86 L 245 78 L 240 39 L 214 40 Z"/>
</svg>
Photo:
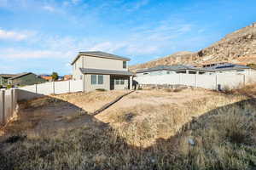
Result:
<svg viewBox="0 0 256 170">
<path fill-rule="evenodd" d="M 130 108 L 139 105 L 152 107 L 165 104 L 182 106 L 188 101 L 211 97 L 214 94 L 204 89 L 184 89 L 177 93 L 165 90 L 139 90 L 125 96 L 97 115 L 96 119 L 90 118 L 93 111 L 100 109 L 103 105 L 125 93 L 128 91 L 94 91 L 86 94 L 61 94 L 34 99 L 20 105 L 17 120 L 9 123 L 3 131 L 7 134 L 49 135 L 49 133 L 54 134 L 84 125 L 94 126 L 96 120 L 103 123 L 113 122 L 111 117 L 114 116 L 114 113 L 123 111 L 125 108 L 129 111 Z"/>
</svg>

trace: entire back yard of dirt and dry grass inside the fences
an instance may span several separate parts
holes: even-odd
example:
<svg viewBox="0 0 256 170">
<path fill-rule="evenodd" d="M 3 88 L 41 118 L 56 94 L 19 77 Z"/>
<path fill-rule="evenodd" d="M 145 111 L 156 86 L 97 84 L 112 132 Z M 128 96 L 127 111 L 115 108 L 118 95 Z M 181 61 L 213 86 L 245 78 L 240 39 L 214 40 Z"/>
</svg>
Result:
<svg viewBox="0 0 256 170">
<path fill-rule="evenodd" d="M 20 104 L 0 169 L 253 169 L 254 86 L 62 94 Z"/>
</svg>

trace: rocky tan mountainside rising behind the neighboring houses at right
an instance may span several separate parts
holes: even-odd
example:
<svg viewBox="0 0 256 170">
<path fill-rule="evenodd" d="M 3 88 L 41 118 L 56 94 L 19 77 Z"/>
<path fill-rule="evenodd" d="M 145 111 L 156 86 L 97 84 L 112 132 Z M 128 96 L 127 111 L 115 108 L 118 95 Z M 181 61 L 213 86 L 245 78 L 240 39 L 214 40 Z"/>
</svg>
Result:
<svg viewBox="0 0 256 170">
<path fill-rule="evenodd" d="M 140 65 L 131 65 L 131 71 L 156 65 L 202 65 L 215 62 L 256 64 L 256 23 L 232 32 L 210 47 L 199 52 L 178 52 Z"/>
</svg>

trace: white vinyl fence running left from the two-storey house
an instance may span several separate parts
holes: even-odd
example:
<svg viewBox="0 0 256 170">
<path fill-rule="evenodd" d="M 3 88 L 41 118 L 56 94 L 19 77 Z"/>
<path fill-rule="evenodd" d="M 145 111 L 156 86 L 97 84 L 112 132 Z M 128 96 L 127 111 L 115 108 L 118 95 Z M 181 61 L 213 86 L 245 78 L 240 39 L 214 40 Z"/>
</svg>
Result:
<svg viewBox="0 0 256 170">
<path fill-rule="evenodd" d="M 49 94 L 67 94 L 84 91 L 83 80 L 69 80 L 62 82 L 44 82 L 18 88 L 18 100 L 34 99 Z"/>
</svg>

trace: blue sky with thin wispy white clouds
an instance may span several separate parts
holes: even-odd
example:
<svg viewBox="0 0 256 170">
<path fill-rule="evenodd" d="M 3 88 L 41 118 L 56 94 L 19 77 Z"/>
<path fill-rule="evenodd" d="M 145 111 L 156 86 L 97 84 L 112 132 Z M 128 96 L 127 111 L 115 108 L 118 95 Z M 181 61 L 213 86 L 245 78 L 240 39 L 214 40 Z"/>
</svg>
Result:
<svg viewBox="0 0 256 170">
<path fill-rule="evenodd" d="M 0 73 L 71 73 L 79 51 L 130 65 L 198 51 L 255 22 L 255 0 L 0 0 Z"/>
</svg>

